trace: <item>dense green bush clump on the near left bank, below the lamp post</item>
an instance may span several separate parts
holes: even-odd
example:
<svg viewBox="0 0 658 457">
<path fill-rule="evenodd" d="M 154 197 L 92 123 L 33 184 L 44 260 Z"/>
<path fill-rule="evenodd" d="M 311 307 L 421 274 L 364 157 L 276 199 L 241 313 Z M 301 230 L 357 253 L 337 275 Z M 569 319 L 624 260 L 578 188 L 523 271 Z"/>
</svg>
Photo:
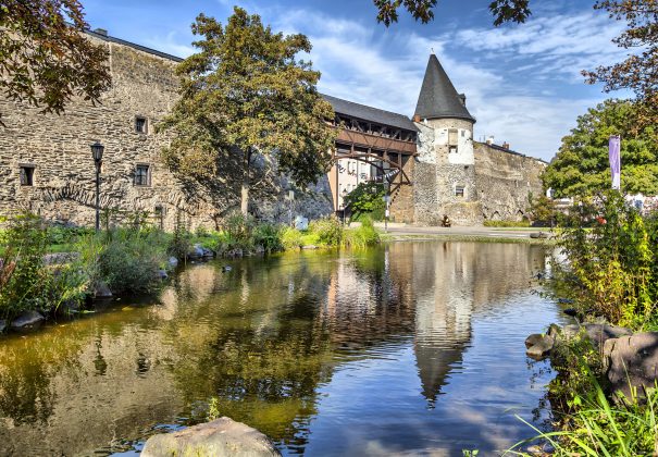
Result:
<svg viewBox="0 0 658 457">
<path fill-rule="evenodd" d="M 5 221 L 0 233 L 0 326 L 22 330 L 57 314 L 74 314 L 95 296 L 149 293 L 166 271 L 165 234 L 147 226 L 116 227 L 67 236 L 70 252 L 58 246 L 53 228 L 34 214 Z"/>
</svg>

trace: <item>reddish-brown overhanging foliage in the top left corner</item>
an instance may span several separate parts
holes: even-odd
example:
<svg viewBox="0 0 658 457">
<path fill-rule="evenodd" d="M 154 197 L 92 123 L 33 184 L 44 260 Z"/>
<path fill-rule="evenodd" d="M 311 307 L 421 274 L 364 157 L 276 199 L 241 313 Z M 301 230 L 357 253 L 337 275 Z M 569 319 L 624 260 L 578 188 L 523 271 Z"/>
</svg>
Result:
<svg viewBox="0 0 658 457">
<path fill-rule="evenodd" d="M 108 54 L 86 29 L 77 0 L 0 0 L 0 91 L 58 114 L 74 96 L 98 102 Z"/>
</svg>

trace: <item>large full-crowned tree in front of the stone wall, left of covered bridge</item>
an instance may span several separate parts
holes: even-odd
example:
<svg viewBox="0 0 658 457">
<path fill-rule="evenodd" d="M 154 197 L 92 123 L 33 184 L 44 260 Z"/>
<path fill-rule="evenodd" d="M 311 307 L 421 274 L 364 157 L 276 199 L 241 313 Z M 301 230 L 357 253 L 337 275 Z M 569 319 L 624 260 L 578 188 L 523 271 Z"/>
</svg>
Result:
<svg viewBox="0 0 658 457">
<path fill-rule="evenodd" d="M 311 50 L 308 38 L 275 34 L 237 7 L 226 26 L 199 15 L 193 33 L 202 37 L 194 42 L 199 52 L 177 66 L 181 98 L 160 125 L 174 134 L 165 163 L 212 180 L 218 166 L 237 162 L 244 214 L 256 156 L 275 159 L 297 185 L 315 182 L 330 165 L 335 131 L 315 87 L 320 73 L 296 58 Z"/>
</svg>

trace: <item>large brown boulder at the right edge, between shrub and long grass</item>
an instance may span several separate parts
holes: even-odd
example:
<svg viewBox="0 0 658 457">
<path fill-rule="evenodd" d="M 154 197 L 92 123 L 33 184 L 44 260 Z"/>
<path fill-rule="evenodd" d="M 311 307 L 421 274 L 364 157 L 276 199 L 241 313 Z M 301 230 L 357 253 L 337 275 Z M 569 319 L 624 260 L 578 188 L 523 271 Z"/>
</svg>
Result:
<svg viewBox="0 0 658 457">
<path fill-rule="evenodd" d="M 658 332 L 609 338 L 604 344 L 604 370 L 612 393 L 631 398 L 631 387 L 640 397 L 654 388 L 658 379 Z"/>
</svg>

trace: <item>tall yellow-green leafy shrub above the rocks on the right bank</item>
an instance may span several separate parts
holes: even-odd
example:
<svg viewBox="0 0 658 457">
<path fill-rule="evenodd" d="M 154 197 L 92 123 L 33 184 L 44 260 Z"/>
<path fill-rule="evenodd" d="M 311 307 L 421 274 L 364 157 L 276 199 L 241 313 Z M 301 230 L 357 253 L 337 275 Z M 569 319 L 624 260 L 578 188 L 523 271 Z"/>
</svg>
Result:
<svg viewBox="0 0 658 457">
<path fill-rule="evenodd" d="M 572 214 L 582 223 L 562 231 L 560 247 L 579 307 L 611 323 L 655 325 L 658 221 L 643 219 L 619 192 L 582 201 Z"/>
</svg>

